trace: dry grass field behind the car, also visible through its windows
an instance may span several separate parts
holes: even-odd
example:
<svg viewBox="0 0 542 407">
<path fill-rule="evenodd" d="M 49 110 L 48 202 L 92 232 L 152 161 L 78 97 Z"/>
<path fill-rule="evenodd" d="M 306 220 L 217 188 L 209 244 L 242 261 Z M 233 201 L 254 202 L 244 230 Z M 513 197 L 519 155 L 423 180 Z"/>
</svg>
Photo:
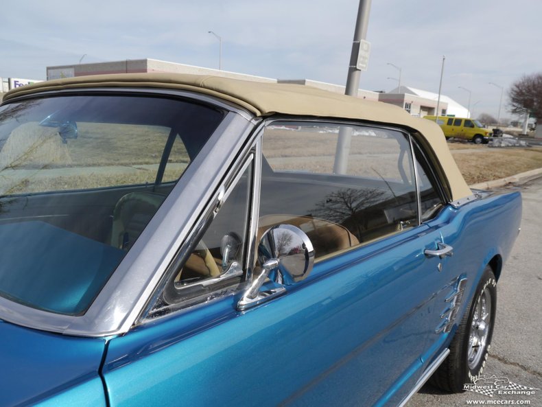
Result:
<svg viewBox="0 0 542 407">
<path fill-rule="evenodd" d="M 0 151 L 0 194 L 86 189 L 154 183 L 169 129 L 158 126 L 78 124 L 77 139 L 62 143 L 56 129 L 23 124 Z M 371 130 L 351 138 L 349 173 L 400 178 L 397 141 Z M 305 170 L 330 174 L 338 134 L 322 131 L 266 131 L 264 152 L 277 170 Z M 471 143 L 449 143 L 460 171 L 469 184 L 504 178 L 542 167 L 542 148 L 488 148 Z M 365 152 L 370 150 L 371 154 Z M 176 141 L 164 181 L 178 178 L 189 163 Z M 386 165 L 389 163 L 389 165 Z M 408 163 L 403 173 L 408 172 Z M 400 170 L 399 170 L 400 171 Z"/>
</svg>

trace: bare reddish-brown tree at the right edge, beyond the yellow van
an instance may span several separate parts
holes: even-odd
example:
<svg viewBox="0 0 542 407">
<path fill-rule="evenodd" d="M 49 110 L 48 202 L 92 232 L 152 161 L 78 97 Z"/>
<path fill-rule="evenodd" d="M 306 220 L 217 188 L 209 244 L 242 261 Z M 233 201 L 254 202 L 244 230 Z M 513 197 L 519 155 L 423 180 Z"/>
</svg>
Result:
<svg viewBox="0 0 542 407">
<path fill-rule="evenodd" d="M 523 115 L 528 110 L 531 116 L 542 119 L 542 73 L 523 75 L 512 84 L 508 97 L 512 113 Z"/>
</svg>

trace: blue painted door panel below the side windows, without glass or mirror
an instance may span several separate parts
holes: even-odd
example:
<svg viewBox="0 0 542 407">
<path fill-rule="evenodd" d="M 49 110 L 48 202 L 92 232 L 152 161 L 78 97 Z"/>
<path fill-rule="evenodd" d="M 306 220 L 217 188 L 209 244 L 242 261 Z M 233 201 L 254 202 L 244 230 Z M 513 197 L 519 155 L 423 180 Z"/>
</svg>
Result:
<svg viewBox="0 0 542 407">
<path fill-rule="evenodd" d="M 364 405 L 419 377 L 432 292 L 425 226 L 320 261 L 244 313 L 233 297 L 110 342 L 112 406 Z M 339 403 L 338 403 L 339 402 Z"/>
</svg>

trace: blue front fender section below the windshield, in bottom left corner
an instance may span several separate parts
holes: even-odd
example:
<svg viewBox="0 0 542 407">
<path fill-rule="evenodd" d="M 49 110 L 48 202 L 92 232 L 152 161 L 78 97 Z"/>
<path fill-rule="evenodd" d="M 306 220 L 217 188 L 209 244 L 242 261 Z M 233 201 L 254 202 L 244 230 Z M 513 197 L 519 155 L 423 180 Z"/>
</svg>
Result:
<svg viewBox="0 0 542 407">
<path fill-rule="evenodd" d="M 0 321 L 0 406 L 105 406 L 105 342 Z"/>
</svg>

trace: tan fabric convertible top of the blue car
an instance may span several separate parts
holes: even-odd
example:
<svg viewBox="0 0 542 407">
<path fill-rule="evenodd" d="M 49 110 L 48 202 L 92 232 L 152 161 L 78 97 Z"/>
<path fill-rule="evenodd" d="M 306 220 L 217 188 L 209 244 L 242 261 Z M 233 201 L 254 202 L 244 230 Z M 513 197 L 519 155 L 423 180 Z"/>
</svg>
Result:
<svg viewBox="0 0 542 407">
<path fill-rule="evenodd" d="M 196 91 L 233 102 L 257 116 L 274 113 L 315 117 L 362 119 L 408 127 L 423 137 L 421 141 L 435 154 L 431 157 L 440 177 L 447 180 L 452 200 L 472 194 L 446 144 L 442 130 L 434 122 L 412 117 L 398 106 L 370 102 L 298 84 L 252 82 L 207 75 L 179 73 L 123 73 L 80 76 L 21 86 L 5 94 L 4 100 L 49 90 L 89 87 L 145 87 Z"/>
</svg>

